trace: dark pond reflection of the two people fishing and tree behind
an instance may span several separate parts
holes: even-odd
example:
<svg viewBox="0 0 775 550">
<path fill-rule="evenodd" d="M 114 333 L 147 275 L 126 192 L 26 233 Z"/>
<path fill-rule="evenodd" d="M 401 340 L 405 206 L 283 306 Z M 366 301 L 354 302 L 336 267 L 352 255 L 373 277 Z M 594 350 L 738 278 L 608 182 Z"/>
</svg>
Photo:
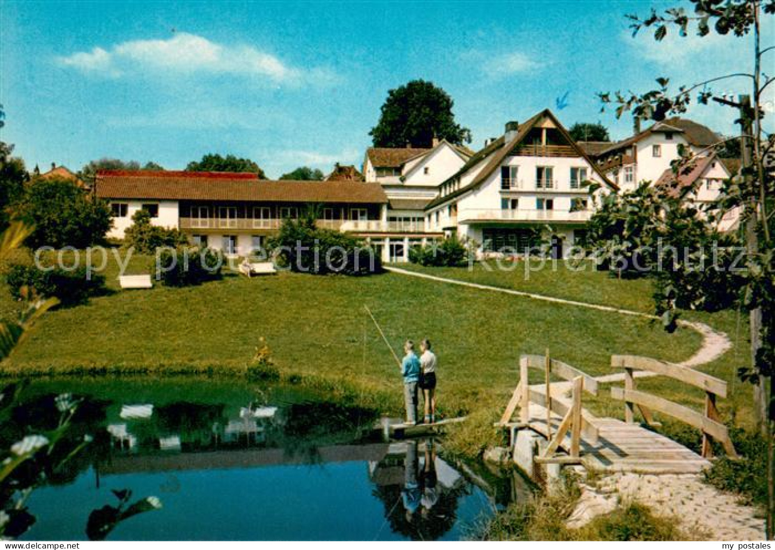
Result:
<svg viewBox="0 0 775 550">
<path fill-rule="evenodd" d="M 470 492 L 463 476 L 436 455 L 432 438 L 391 445 L 371 480 L 391 530 L 412 540 L 443 537 L 456 522 L 458 500 Z"/>
</svg>

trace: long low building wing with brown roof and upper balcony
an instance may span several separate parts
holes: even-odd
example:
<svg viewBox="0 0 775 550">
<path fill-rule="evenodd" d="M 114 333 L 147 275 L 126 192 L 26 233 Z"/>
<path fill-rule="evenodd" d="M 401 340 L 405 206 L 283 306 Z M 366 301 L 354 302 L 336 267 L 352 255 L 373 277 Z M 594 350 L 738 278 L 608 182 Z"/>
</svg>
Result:
<svg viewBox="0 0 775 550">
<path fill-rule="evenodd" d="M 246 256 L 263 248 L 284 218 L 319 208 L 319 226 L 360 235 L 359 224 L 387 219 L 380 184 L 259 180 L 256 174 L 99 170 L 95 194 L 113 211 L 108 237 L 122 239 L 140 209 L 155 225 L 181 229 L 192 242 Z"/>
</svg>

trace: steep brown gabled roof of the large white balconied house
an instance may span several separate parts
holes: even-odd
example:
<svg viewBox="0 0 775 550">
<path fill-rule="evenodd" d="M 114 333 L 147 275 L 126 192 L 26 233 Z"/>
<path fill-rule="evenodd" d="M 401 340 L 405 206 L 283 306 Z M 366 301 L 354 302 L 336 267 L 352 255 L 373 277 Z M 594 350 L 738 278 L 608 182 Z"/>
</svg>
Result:
<svg viewBox="0 0 775 550">
<path fill-rule="evenodd" d="M 442 205 L 446 201 L 449 201 L 450 199 L 460 197 L 462 194 L 466 194 L 469 191 L 473 191 L 474 188 L 479 187 L 480 184 L 483 184 L 485 180 L 487 180 L 490 175 L 498 169 L 498 167 L 501 166 L 501 163 L 503 163 L 503 160 L 509 156 L 510 153 L 512 153 L 512 150 L 516 146 L 518 146 L 520 143 L 522 143 L 522 139 L 525 139 L 525 136 L 528 135 L 528 132 L 538 123 L 539 121 L 543 120 L 543 118 L 549 118 L 554 125 L 556 126 L 556 129 L 560 131 L 560 134 L 567 140 L 568 143 L 570 143 L 570 146 L 574 148 L 578 156 L 582 157 L 584 160 L 587 161 L 587 163 L 590 165 L 592 170 L 595 171 L 596 174 L 598 174 L 599 177 L 601 177 L 601 180 L 605 184 L 608 184 L 609 187 L 613 189 L 617 189 L 618 186 L 611 182 L 611 180 L 608 180 L 608 177 L 605 176 L 601 172 L 601 170 L 598 168 L 598 166 L 591 160 L 591 158 L 587 155 L 587 153 L 584 152 L 578 146 L 578 144 L 574 141 L 573 138 L 570 137 L 570 134 L 567 132 L 565 127 L 560 123 L 560 121 L 556 118 L 556 116 L 551 112 L 548 108 L 544 109 L 542 112 L 537 113 L 536 115 L 533 115 L 531 118 L 527 119 L 525 122 L 519 125 L 515 137 L 509 142 L 505 144 L 505 135 L 499 137 L 498 139 L 494 140 L 493 143 L 485 147 L 483 150 L 480 150 L 479 153 L 476 153 L 474 156 L 471 157 L 469 162 L 467 162 L 463 168 L 461 168 L 453 177 L 450 177 L 448 180 L 446 180 L 444 183 L 446 184 L 450 180 L 454 180 L 457 177 L 460 177 L 461 174 L 465 173 L 467 170 L 470 170 L 471 167 L 476 166 L 481 161 L 490 158 L 489 162 L 480 170 L 479 174 L 477 174 L 476 177 L 474 177 L 474 180 L 471 181 L 470 184 L 467 184 L 465 187 L 460 187 L 457 191 L 453 191 L 450 194 L 447 194 L 443 197 L 439 196 L 438 198 L 431 201 L 431 203 L 425 207 L 427 208 L 433 208 L 438 205 Z"/>
</svg>

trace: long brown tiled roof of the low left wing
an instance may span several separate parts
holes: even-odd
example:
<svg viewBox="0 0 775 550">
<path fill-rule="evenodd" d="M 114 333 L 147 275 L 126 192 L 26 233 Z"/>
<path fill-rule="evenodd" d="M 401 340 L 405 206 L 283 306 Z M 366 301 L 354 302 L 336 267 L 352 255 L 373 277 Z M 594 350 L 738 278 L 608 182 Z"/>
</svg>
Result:
<svg viewBox="0 0 775 550">
<path fill-rule="evenodd" d="M 380 184 L 357 181 L 259 180 L 256 174 L 99 170 L 100 198 L 171 201 L 387 203 Z"/>
</svg>

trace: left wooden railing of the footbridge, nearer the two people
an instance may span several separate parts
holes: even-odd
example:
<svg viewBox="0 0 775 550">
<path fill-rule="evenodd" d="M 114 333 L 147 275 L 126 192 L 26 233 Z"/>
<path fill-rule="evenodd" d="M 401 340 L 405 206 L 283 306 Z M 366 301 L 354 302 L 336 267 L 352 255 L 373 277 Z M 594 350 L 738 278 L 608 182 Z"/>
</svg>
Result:
<svg viewBox="0 0 775 550">
<path fill-rule="evenodd" d="M 544 393 L 530 387 L 530 369 L 541 370 L 544 374 Z M 567 399 L 560 399 L 552 393 L 552 376 L 572 383 L 570 391 L 570 403 Z M 541 456 L 536 457 L 536 462 L 580 462 L 581 435 L 591 443 L 598 441 L 598 428 L 594 426 L 591 418 L 581 407 L 581 399 L 584 391 L 589 394 L 598 394 L 598 381 L 567 363 L 557 361 L 549 356 L 546 350 L 544 356 L 523 355 L 519 358 L 519 382 L 509 400 L 501 420 L 496 425 L 512 425 L 511 419 L 517 407 L 519 407 L 519 422 L 517 427 L 529 427 L 536 431 L 543 431 L 543 435 L 549 440 L 549 445 Z M 545 421 L 531 418 L 530 404 L 537 404 L 546 410 Z M 560 418 L 560 424 L 553 431 L 553 420 Z M 563 440 L 570 431 L 570 445 L 567 445 L 568 456 L 555 456 L 556 450 L 563 445 Z"/>
</svg>

